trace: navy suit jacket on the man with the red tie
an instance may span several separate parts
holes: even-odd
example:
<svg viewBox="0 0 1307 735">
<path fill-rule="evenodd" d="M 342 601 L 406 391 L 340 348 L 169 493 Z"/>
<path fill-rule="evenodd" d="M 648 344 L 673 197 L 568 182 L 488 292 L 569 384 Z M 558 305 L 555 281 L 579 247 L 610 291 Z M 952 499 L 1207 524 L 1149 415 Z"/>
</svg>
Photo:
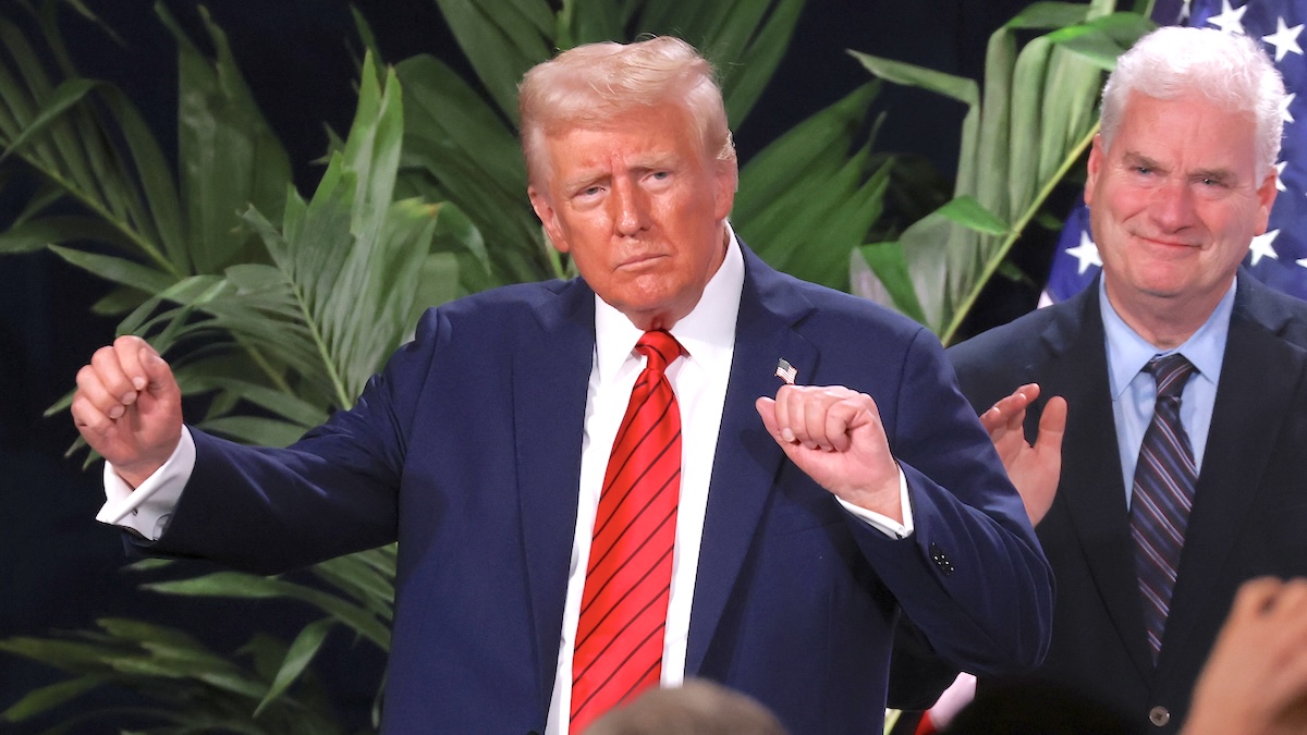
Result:
<svg viewBox="0 0 1307 735">
<path fill-rule="evenodd" d="M 910 609 L 984 670 L 1043 657 L 1047 562 L 937 340 L 745 251 L 686 675 L 793 732 L 873 732 Z M 286 450 L 195 432 L 196 467 L 152 551 L 260 570 L 399 540 L 387 732 L 541 731 L 562 630 L 593 292 L 508 286 L 431 310 L 357 405 Z M 870 394 L 910 485 L 891 540 L 791 464 L 754 399 L 778 358 Z"/>
</svg>

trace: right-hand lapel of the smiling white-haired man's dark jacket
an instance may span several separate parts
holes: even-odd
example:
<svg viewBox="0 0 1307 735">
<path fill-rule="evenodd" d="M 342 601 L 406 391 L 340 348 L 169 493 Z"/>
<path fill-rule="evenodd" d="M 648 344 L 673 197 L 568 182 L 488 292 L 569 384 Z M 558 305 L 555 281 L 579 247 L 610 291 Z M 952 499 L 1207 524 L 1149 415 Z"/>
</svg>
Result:
<svg viewBox="0 0 1307 735">
<path fill-rule="evenodd" d="M 1265 286 L 1240 276 L 1230 319 L 1212 429 L 1185 532 L 1185 544 L 1167 620 L 1159 668 L 1179 650 L 1197 623 L 1195 611 L 1210 604 L 1248 509 L 1263 489 L 1276 437 L 1302 379 L 1304 353 L 1278 336 L 1287 315 L 1261 298 Z M 1253 381 L 1255 383 L 1249 383 Z"/>
</svg>

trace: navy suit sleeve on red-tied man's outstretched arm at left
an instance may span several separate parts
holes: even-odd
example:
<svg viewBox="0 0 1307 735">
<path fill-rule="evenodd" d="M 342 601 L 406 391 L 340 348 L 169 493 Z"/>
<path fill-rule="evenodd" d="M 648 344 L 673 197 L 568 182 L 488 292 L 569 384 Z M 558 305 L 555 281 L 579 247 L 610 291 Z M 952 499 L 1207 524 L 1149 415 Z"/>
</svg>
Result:
<svg viewBox="0 0 1307 735">
<path fill-rule="evenodd" d="M 248 447 L 192 429 L 195 470 L 150 555 L 199 557 L 272 574 L 397 535 L 399 485 L 414 405 L 439 341 L 429 311 L 349 411 L 286 449 Z"/>
</svg>

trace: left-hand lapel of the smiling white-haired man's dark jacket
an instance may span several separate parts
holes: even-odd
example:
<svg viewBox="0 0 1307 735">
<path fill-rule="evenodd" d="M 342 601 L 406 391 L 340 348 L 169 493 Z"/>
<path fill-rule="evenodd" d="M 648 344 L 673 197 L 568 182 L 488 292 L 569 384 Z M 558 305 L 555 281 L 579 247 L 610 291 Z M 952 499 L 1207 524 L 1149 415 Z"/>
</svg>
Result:
<svg viewBox="0 0 1307 735">
<path fill-rule="evenodd" d="M 1063 442 L 1073 447 L 1063 453 L 1057 490 L 1064 515 L 1047 521 L 1070 524 L 1117 634 L 1150 679 L 1097 281 L 1068 303 L 1043 339 L 1050 357 L 1042 394 L 1067 399 Z"/>
</svg>

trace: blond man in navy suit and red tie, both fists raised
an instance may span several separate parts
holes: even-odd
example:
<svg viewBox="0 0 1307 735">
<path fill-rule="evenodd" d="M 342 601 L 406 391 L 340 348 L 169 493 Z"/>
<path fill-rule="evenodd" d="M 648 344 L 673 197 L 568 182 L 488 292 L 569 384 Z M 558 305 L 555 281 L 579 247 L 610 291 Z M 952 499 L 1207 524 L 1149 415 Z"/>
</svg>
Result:
<svg viewBox="0 0 1307 735">
<path fill-rule="evenodd" d="M 527 75 L 521 120 L 531 203 L 579 280 L 430 310 L 352 411 L 285 450 L 184 428 L 167 365 L 122 337 L 72 408 L 108 460 L 101 518 L 260 572 L 399 540 L 384 730 L 579 731 L 600 485 L 633 345 L 669 332 L 656 681 L 723 683 L 795 732 L 873 732 L 901 609 L 970 666 L 1035 666 L 1048 566 L 937 340 L 735 237 L 708 64 L 673 38 L 578 47 Z"/>
</svg>

